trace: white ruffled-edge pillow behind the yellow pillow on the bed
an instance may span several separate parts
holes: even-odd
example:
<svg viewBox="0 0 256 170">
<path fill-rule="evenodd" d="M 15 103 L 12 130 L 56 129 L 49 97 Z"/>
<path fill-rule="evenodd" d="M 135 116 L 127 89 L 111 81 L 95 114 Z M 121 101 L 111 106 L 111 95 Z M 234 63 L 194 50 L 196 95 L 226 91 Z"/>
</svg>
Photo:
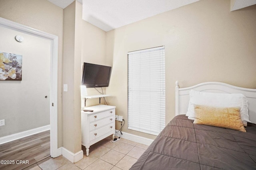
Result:
<svg viewBox="0 0 256 170">
<path fill-rule="evenodd" d="M 244 126 L 249 121 L 247 98 L 243 94 L 210 93 L 190 90 L 188 103 L 188 119 L 195 119 L 194 104 L 211 107 L 241 107 L 240 115 Z"/>
</svg>

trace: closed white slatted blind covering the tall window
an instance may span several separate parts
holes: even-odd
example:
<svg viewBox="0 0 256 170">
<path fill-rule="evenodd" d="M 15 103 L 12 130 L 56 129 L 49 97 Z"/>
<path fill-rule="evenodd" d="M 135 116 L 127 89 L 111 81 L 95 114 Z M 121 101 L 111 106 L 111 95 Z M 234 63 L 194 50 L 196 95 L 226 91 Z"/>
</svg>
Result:
<svg viewBox="0 0 256 170">
<path fill-rule="evenodd" d="M 158 135 L 165 127 L 164 46 L 128 53 L 128 129 Z"/>
</svg>

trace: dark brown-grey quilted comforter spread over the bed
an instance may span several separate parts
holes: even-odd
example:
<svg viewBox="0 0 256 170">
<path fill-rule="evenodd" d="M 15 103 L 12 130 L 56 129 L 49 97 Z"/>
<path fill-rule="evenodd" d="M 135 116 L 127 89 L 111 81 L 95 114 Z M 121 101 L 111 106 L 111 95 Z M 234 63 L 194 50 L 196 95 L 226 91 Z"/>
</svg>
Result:
<svg viewBox="0 0 256 170">
<path fill-rule="evenodd" d="M 130 170 L 256 170 L 256 125 L 248 123 L 246 131 L 196 125 L 178 115 Z"/>
</svg>

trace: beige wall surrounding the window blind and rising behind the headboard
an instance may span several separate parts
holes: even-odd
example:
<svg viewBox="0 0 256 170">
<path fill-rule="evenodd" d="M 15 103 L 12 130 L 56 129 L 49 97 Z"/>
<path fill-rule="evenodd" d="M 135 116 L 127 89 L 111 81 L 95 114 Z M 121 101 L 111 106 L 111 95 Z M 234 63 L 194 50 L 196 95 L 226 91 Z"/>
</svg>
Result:
<svg viewBox="0 0 256 170">
<path fill-rule="evenodd" d="M 175 116 L 176 80 L 180 87 L 218 81 L 256 88 L 255 21 L 256 6 L 230 12 L 230 0 L 200 0 L 108 31 L 106 58 L 113 70 L 106 92 L 114 96 L 116 114 L 128 119 L 127 52 L 139 49 L 165 46 L 166 123 Z M 127 123 L 123 131 L 155 138 L 127 129 Z"/>
</svg>

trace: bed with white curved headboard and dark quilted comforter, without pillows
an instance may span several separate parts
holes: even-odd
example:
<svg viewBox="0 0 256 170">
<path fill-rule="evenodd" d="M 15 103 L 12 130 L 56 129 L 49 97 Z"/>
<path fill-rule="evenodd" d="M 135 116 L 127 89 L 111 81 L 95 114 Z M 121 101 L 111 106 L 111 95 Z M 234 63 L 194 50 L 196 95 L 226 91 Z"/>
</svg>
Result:
<svg viewBox="0 0 256 170">
<path fill-rule="evenodd" d="M 243 94 L 248 100 L 246 132 L 188 119 L 191 91 L 214 94 Z M 222 102 L 221 102 L 222 103 Z M 196 111 L 196 107 L 195 112 Z M 242 107 L 240 108 L 240 113 Z M 242 114 L 242 113 L 241 113 Z M 224 121 L 225 122 L 225 121 Z M 243 121 L 240 122 L 243 123 Z M 228 123 L 227 123 L 228 124 Z M 242 124 L 244 127 L 244 124 Z M 256 89 L 220 82 L 205 82 L 179 88 L 176 82 L 176 116 L 166 125 L 130 170 L 255 170 Z"/>
</svg>

